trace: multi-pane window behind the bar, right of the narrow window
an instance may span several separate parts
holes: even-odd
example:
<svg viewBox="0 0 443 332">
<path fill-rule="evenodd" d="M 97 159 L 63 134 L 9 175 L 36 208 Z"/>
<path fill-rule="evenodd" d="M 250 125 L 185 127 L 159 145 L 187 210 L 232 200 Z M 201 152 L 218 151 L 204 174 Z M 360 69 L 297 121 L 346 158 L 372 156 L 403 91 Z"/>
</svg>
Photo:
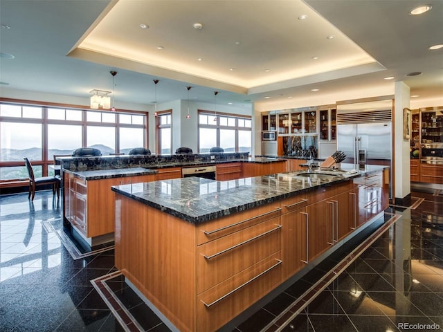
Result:
<svg viewBox="0 0 443 332">
<path fill-rule="evenodd" d="M 251 152 L 251 117 L 199 111 L 199 153 L 211 147 L 226 152 Z"/>
</svg>

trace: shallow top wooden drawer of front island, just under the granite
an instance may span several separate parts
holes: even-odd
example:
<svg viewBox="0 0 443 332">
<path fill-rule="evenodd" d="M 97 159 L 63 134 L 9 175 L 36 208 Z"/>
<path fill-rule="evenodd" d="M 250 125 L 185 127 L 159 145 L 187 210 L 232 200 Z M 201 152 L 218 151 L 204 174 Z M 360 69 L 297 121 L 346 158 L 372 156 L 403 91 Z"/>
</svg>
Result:
<svg viewBox="0 0 443 332">
<path fill-rule="evenodd" d="M 280 203 L 266 204 L 197 226 L 197 246 L 280 216 Z"/>
</svg>

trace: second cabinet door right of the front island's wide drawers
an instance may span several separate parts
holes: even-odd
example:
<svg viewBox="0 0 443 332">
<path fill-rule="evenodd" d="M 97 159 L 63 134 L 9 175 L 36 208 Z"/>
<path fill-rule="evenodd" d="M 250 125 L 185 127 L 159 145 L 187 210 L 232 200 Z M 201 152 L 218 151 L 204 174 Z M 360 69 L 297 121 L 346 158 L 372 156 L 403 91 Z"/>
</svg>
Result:
<svg viewBox="0 0 443 332">
<path fill-rule="evenodd" d="M 308 257 L 312 261 L 334 244 L 332 211 L 334 203 L 329 200 L 307 206 L 308 214 Z"/>
</svg>

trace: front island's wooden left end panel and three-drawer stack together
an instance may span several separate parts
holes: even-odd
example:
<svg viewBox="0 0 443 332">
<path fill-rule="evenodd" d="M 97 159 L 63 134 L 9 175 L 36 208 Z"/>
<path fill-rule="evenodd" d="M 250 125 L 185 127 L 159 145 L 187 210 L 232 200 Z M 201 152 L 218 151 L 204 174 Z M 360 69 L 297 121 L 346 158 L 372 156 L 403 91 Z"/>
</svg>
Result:
<svg viewBox="0 0 443 332">
<path fill-rule="evenodd" d="M 282 283 L 275 204 L 193 225 L 116 200 L 116 266 L 179 331 L 216 331 Z"/>
</svg>

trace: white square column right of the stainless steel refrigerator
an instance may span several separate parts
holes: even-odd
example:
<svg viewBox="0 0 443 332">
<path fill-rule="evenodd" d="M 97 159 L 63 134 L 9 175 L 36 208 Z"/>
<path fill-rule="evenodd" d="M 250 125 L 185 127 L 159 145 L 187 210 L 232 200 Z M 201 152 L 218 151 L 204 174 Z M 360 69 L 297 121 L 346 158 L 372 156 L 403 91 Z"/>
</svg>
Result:
<svg viewBox="0 0 443 332">
<path fill-rule="evenodd" d="M 410 154 L 409 140 L 403 139 L 403 109 L 409 108 L 410 89 L 404 82 L 395 82 L 394 112 L 394 156 L 395 156 L 395 193 L 397 199 L 410 194 Z"/>
</svg>

